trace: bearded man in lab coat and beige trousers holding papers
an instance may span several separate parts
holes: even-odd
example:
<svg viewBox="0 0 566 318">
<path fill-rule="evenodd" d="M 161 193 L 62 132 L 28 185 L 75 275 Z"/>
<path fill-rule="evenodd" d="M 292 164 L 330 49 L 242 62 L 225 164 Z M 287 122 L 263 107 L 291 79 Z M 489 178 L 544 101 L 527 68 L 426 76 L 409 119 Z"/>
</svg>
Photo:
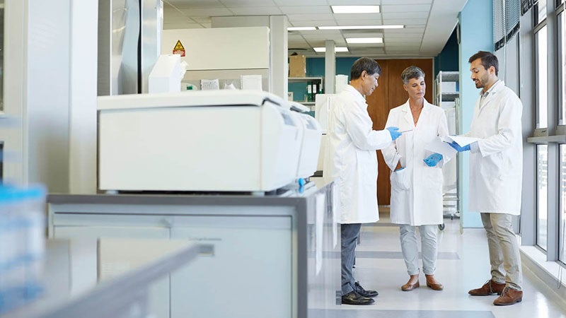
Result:
<svg viewBox="0 0 566 318">
<path fill-rule="evenodd" d="M 523 105 L 497 78 L 497 57 L 480 51 L 468 60 L 476 88 L 483 88 L 475 103 L 466 136 L 479 138 L 468 146 L 451 143 L 456 151 L 470 153 L 470 210 L 481 213 L 490 249 L 491 278 L 470 290 L 473 296 L 497 294 L 494 305 L 521 302 L 521 257 L 512 216 L 521 210 Z"/>
</svg>

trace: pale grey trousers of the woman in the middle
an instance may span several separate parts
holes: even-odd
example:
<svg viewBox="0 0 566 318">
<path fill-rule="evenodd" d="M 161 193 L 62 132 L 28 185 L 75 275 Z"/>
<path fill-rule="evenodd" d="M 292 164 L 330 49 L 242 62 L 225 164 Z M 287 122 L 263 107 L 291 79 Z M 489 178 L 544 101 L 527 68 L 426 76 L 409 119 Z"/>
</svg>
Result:
<svg viewBox="0 0 566 318">
<path fill-rule="evenodd" d="M 416 226 L 408 224 L 399 225 L 401 252 L 403 252 L 403 259 L 405 259 L 409 275 L 417 275 L 420 272 L 416 228 Z M 438 225 L 420 225 L 419 232 L 422 247 L 422 271 L 425 275 L 434 275 L 438 255 Z"/>
</svg>

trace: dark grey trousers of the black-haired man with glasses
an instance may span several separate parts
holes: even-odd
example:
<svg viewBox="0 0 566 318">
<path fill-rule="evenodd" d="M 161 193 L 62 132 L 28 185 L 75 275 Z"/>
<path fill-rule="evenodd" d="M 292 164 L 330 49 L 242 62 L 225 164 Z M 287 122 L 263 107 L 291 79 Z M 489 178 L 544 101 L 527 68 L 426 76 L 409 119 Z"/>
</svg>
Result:
<svg viewBox="0 0 566 318">
<path fill-rule="evenodd" d="M 356 256 L 356 245 L 359 237 L 361 223 L 340 225 L 340 245 L 342 245 L 342 295 L 355 290 L 354 257 Z"/>
</svg>

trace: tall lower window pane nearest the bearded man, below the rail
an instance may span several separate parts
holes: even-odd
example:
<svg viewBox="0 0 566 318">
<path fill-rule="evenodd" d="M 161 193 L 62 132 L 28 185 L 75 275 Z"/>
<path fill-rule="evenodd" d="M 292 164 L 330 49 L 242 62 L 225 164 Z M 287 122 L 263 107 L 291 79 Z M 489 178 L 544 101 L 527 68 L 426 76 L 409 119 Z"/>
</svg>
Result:
<svg viewBox="0 0 566 318">
<path fill-rule="evenodd" d="M 537 231 L 536 245 L 546 250 L 548 220 L 548 146 L 536 146 L 536 184 L 537 184 Z"/>
</svg>

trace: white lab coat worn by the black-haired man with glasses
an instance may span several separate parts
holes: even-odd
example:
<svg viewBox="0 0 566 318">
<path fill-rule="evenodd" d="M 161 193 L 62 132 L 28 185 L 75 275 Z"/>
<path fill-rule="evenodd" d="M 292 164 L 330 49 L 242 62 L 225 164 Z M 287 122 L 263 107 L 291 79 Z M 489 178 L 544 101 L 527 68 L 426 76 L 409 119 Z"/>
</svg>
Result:
<svg viewBox="0 0 566 318">
<path fill-rule="evenodd" d="M 345 86 L 328 112 L 324 176 L 337 182 L 341 223 L 371 223 L 377 210 L 376 150 L 391 143 L 387 130 L 375 131 L 364 96 Z"/>
</svg>

